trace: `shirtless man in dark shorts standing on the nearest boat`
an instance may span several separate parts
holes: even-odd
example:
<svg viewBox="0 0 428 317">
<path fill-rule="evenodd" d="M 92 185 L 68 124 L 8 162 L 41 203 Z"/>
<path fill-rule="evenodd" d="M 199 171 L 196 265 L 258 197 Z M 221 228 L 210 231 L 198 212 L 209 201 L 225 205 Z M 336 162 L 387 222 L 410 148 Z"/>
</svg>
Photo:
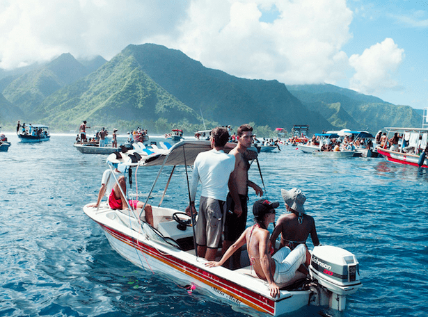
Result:
<svg viewBox="0 0 428 317">
<path fill-rule="evenodd" d="M 246 227 L 247 218 L 247 200 L 248 186 L 255 190 L 256 195 L 262 196 L 263 190 L 252 181 L 248 180 L 248 169 L 250 164 L 246 154 L 248 147 L 251 147 L 253 140 L 253 127 L 249 124 L 243 124 L 237 130 L 238 145 L 230 151 L 229 154 L 235 156 L 235 170 L 230 174 L 229 179 L 229 195 L 228 195 L 228 211 L 225 217 L 225 240 L 223 241 L 221 252 L 224 254 L 226 250 L 237 241 Z M 241 259 L 241 251 L 237 250 L 232 256 L 232 268 L 239 268 Z M 225 262 L 228 267 L 229 261 Z"/>
</svg>

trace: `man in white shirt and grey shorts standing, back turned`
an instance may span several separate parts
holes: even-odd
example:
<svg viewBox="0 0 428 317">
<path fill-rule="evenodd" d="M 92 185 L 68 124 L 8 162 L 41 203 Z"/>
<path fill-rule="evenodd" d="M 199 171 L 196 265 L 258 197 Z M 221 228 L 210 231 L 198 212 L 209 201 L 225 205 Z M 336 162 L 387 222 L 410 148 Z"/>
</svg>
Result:
<svg viewBox="0 0 428 317">
<path fill-rule="evenodd" d="M 221 241 L 225 200 L 228 195 L 230 173 L 235 168 L 235 156 L 225 154 L 223 147 L 228 143 L 228 130 L 216 127 L 211 133 L 212 150 L 196 156 L 190 183 L 190 205 L 186 213 L 196 213 L 195 197 L 198 182 L 202 184 L 199 200 L 199 216 L 196 222 L 196 244 L 198 257 L 212 261 L 216 259 Z"/>
</svg>

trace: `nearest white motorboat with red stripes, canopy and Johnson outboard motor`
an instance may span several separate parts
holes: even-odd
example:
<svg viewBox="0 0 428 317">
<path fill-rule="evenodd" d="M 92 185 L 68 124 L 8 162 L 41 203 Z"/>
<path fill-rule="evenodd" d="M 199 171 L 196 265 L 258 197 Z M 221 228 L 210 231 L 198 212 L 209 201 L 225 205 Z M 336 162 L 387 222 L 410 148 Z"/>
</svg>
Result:
<svg viewBox="0 0 428 317">
<path fill-rule="evenodd" d="M 234 146 L 228 146 L 225 152 Z M 159 172 L 147 197 L 151 196 L 164 166 L 172 165 L 165 195 L 175 167 L 184 165 L 187 175 L 187 165 L 193 164 L 198 153 L 209 149 L 209 141 L 182 140 L 163 154 L 145 156 L 137 163 L 131 163 L 124 155 L 121 162 L 129 168 L 138 166 L 137 170 L 159 165 Z M 308 304 L 329 305 L 342 311 L 346 305 L 346 295 L 356 292 L 362 285 L 359 264 L 353 254 L 338 247 L 318 246 L 312 251 L 309 268 L 312 279 L 294 288 L 282 288 L 279 298 L 271 298 L 267 282 L 253 275 L 249 261 L 247 267 L 238 270 L 207 268 L 206 260 L 196 257 L 194 226 L 186 221 L 189 217 L 183 210 L 174 209 L 174 206 L 161 207 L 164 195 L 158 206 L 152 203 L 153 227 L 144 221 L 145 215 L 140 214 L 141 210 L 132 210 L 131 206 L 126 212 L 110 209 L 106 203 L 99 209 L 86 205 L 84 212 L 104 230 L 111 247 L 136 266 L 150 269 L 154 274 L 166 275 L 196 292 L 208 292 L 246 313 L 260 311 L 280 316 Z M 147 203 L 148 198 L 145 200 Z"/>
</svg>

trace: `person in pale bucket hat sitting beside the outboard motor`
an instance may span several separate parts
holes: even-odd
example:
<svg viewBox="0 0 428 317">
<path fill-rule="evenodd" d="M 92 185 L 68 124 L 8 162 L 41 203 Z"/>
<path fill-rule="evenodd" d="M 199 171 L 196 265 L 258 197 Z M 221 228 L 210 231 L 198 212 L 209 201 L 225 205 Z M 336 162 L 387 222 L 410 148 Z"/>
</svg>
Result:
<svg viewBox="0 0 428 317">
<path fill-rule="evenodd" d="M 300 189 L 292 188 L 291 190 L 281 189 L 281 195 L 287 211 L 290 213 L 280 216 L 271 235 L 271 243 L 275 245 L 276 238 L 281 235 L 280 247 L 288 247 L 293 250 L 300 244 L 306 244 L 310 234 L 313 245 L 319 245 L 315 220 L 306 215 L 303 204 L 306 202 L 306 196 Z"/>
</svg>

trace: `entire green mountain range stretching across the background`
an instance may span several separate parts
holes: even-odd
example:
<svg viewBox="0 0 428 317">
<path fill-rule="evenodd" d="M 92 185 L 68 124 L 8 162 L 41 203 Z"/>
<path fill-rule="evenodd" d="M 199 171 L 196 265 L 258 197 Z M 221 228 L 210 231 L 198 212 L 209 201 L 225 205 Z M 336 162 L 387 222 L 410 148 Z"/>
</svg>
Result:
<svg viewBox="0 0 428 317">
<path fill-rule="evenodd" d="M 419 127 L 422 121 L 409 106 L 326 84 L 286 87 L 242 79 L 157 44 L 129 45 L 109 62 L 101 56 L 79 62 L 63 54 L 1 79 L 0 88 L 8 101 L 0 113 L 4 118 L 17 114 L 16 108 L 10 110 L 14 115 L 4 110 L 14 105 L 21 120 L 63 131 L 88 120 L 93 127 L 164 132 L 172 124 L 201 126 L 204 119 L 209 126 L 253 122 L 264 131 L 308 124 L 311 133 L 343 128 L 375 133 L 383 127 Z"/>
</svg>

